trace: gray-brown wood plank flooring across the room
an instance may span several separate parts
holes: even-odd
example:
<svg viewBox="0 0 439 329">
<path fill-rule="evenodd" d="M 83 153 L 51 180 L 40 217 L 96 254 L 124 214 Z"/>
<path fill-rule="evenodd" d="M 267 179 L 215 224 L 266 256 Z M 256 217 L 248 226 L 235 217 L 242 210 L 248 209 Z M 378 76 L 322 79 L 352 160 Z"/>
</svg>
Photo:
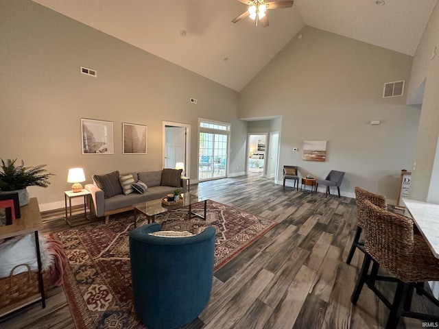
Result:
<svg viewBox="0 0 439 329">
<path fill-rule="evenodd" d="M 357 306 L 350 300 L 363 259 L 357 251 L 351 265 L 344 263 L 355 234 L 355 199 L 284 191 L 258 173 L 202 182 L 191 192 L 278 225 L 215 272 L 209 305 L 185 329 L 385 326 L 388 310 L 367 287 Z M 43 213 L 45 232 L 68 228 L 63 214 L 64 209 Z M 381 287 L 392 296 L 394 284 Z M 47 295 L 47 308 L 29 306 L 1 319 L 0 328 L 75 328 L 62 287 Z M 416 294 L 412 305 L 439 311 Z M 399 328 L 423 328 L 423 322 L 404 318 Z"/>
</svg>

